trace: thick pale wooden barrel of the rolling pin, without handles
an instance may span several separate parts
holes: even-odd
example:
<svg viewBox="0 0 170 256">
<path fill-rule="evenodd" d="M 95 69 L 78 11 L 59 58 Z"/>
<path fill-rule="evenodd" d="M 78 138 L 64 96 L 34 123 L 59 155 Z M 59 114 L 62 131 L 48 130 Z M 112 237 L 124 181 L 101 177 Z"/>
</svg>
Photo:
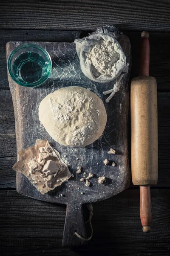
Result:
<svg viewBox="0 0 170 256">
<path fill-rule="evenodd" d="M 151 76 L 134 77 L 130 86 L 131 170 L 134 185 L 158 182 L 157 112 L 156 79 Z"/>
</svg>

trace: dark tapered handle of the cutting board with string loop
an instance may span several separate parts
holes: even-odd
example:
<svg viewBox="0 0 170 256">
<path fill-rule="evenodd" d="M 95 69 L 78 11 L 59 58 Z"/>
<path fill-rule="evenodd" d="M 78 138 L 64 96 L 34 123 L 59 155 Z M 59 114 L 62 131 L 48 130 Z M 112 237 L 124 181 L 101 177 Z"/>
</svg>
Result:
<svg viewBox="0 0 170 256">
<path fill-rule="evenodd" d="M 85 221 L 82 205 L 67 205 L 62 246 L 79 246 L 87 244 L 75 232 L 86 239 Z"/>
</svg>

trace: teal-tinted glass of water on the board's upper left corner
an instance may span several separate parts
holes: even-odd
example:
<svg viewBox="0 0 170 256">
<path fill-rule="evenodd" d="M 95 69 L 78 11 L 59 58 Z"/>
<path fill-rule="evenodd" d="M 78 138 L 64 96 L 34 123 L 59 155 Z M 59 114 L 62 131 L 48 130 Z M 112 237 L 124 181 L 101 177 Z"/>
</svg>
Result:
<svg viewBox="0 0 170 256">
<path fill-rule="evenodd" d="M 52 62 L 44 48 L 37 44 L 23 44 L 11 52 L 7 68 L 9 75 L 17 84 L 37 87 L 48 79 Z"/>
</svg>

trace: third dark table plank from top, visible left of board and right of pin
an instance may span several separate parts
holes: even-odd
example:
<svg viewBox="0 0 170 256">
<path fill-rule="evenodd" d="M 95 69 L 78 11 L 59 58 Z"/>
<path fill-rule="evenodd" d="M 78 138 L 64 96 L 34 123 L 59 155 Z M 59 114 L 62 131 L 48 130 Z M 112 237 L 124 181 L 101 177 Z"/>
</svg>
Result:
<svg viewBox="0 0 170 256">
<path fill-rule="evenodd" d="M 0 90 L 0 188 L 15 188 L 12 166 L 17 160 L 14 108 L 9 90 Z M 159 178 L 156 187 L 170 187 L 170 93 L 158 93 Z"/>
</svg>

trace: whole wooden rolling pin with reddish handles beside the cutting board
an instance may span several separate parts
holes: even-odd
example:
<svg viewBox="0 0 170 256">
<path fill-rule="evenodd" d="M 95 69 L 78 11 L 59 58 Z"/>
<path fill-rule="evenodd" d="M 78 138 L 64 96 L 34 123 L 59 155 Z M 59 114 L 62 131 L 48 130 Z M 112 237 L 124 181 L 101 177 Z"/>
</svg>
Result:
<svg viewBox="0 0 170 256">
<path fill-rule="evenodd" d="M 156 79 L 149 76 L 149 33 L 141 34 L 140 76 L 131 81 L 132 182 L 140 186 L 140 217 L 144 232 L 151 231 L 150 185 L 158 181 L 158 125 Z"/>
</svg>

